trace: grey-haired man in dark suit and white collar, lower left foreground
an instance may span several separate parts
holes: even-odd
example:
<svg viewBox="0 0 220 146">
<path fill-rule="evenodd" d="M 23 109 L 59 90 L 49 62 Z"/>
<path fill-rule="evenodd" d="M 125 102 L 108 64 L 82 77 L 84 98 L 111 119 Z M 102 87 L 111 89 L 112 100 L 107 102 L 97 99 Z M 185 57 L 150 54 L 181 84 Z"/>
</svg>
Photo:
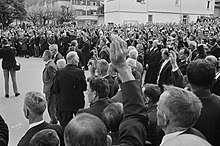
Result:
<svg viewBox="0 0 220 146">
<path fill-rule="evenodd" d="M 29 121 L 29 129 L 17 146 L 29 146 L 31 138 L 43 129 L 55 130 L 60 138 L 60 145 L 64 146 L 62 126 L 49 124 L 43 120 L 46 104 L 45 97 L 39 92 L 32 91 L 25 95 L 23 111 Z"/>
</svg>

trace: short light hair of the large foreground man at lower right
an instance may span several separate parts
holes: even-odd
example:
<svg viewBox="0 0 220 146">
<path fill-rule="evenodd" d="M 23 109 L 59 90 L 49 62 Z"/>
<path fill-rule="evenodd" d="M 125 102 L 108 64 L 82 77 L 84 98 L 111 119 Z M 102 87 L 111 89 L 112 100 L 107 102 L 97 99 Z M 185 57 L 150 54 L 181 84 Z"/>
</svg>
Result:
<svg viewBox="0 0 220 146">
<path fill-rule="evenodd" d="M 169 93 L 165 106 L 170 112 L 170 122 L 176 127 L 192 127 L 202 110 L 199 98 L 190 91 L 174 86 L 165 86 L 165 92 Z"/>
</svg>

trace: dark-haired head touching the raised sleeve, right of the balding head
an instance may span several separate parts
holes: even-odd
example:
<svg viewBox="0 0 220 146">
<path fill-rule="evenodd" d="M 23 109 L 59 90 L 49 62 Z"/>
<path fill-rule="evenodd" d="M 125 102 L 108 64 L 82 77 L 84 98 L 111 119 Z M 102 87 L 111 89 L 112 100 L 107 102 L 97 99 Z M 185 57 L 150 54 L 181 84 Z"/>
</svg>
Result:
<svg viewBox="0 0 220 146">
<path fill-rule="evenodd" d="M 108 131 L 117 132 L 119 129 L 119 125 L 123 119 L 123 108 L 121 108 L 120 104 L 112 103 L 103 111 L 102 120 Z"/>
</svg>

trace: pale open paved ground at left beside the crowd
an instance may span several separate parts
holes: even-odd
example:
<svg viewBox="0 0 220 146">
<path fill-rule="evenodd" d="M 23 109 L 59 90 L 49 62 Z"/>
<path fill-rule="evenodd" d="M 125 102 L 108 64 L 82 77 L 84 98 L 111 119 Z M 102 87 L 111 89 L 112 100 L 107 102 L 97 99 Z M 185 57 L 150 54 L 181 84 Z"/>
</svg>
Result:
<svg viewBox="0 0 220 146">
<path fill-rule="evenodd" d="M 23 115 L 24 95 L 28 91 L 42 92 L 42 70 L 44 62 L 41 58 L 16 58 L 21 63 L 21 70 L 17 72 L 17 83 L 21 95 L 15 97 L 10 80 L 10 98 L 4 97 L 3 71 L 0 69 L 0 114 L 9 126 L 9 146 L 16 146 L 19 139 L 28 129 L 28 120 Z M 1 60 L 0 60 L 1 63 Z M 0 65 L 1 68 L 1 65 Z M 86 72 L 88 76 L 88 72 Z M 86 98 L 86 107 L 88 102 Z M 49 121 L 48 113 L 44 114 L 45 120 Z"/>
</svg>

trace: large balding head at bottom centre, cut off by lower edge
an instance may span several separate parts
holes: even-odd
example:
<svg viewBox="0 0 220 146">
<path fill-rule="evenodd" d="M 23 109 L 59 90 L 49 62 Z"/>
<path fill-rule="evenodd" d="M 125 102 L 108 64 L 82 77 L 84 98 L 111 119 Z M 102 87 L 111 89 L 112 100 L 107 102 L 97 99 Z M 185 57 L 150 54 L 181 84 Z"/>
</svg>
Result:
<svg viewBox="0 0 220 146">
<path fill-rule="evenodd" d="M 107 129 L 98 117 L 82 113 L 66 126 L 64 139 L 66 146 L 106 146 Z"/>
</svg>

